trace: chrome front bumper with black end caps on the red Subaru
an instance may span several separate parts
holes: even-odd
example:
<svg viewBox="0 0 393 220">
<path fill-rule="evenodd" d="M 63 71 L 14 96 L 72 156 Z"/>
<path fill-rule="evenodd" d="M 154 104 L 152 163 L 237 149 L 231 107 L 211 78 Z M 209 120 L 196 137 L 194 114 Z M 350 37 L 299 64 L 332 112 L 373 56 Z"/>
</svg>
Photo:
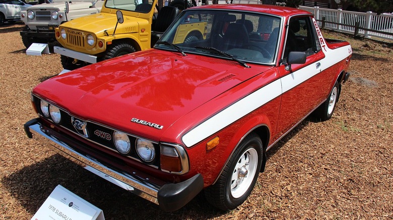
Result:
<svg viewBox="0 0 393 220">
<path fill-rule="evenodd" d="M 43 128 L 38 120 L 33 119 L 25 124 L 25 132 L 29 138 L 39 141 L 61 156 L 125 190 L 158 204 L 164 211 L 181 208 L 203 189 L 204 182 L 201 174 L 176 184 L 157 184 L 150 181 L 154 177 L 146 177 L 146 174 L 142 178 L 138 176 L 138 172 L 125 173 L 117 170 L 61 141 L 56 137 L 56 133 Z"/>
</svg>

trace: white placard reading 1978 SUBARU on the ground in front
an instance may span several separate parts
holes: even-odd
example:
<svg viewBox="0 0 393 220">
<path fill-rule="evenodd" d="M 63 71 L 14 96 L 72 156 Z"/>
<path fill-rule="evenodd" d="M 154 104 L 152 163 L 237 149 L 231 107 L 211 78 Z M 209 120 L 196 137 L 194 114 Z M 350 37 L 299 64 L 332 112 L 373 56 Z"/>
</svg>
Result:
<svg viewBox="0 0 393 220">
<path fill-rule="evenodd" d="M 57 185 L 31 220 L 104 220 L 101 209 Z"/>
</svg>

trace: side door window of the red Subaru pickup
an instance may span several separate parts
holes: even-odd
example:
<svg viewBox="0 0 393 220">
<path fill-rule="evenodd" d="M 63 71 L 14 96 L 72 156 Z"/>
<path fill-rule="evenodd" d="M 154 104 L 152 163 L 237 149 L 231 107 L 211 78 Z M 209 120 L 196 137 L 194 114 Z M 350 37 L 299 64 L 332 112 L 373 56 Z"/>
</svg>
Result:
<svg viewBox="0 0 393 220">
<path fill-rule="evenodd" d="M 289 20 L 284 49 L 284 60 L 286 60 L 291 51 L 305 52 L 307 56 L 317 51 L 316 44 L 314 43 L 315 36 L 311 25 L 309 17 L 295 17 Z"/>
</svg>

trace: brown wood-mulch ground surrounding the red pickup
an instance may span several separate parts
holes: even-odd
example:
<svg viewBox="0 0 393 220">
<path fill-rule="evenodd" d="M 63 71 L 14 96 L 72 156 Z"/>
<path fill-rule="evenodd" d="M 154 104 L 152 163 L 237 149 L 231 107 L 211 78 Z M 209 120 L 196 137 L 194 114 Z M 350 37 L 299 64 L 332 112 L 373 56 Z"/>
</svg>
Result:
<svg viewBox="0 0 393 220">
<path fill-rule="evenodd" d="M 219 211 L 201 193 L 167 213 L 26 137 L 23 124 L 36 117 L 29 92 L 62 67 L 58 54 L 26 55 L 22 28 L 0 27 L 1 219 L 30 219 L 58 184 L 106 219 L 393 219 L 391 44 L 347 39 L 351 77 L 333 118 L 306 120 L 274 146 L 244 204 Z"/>
</svg>

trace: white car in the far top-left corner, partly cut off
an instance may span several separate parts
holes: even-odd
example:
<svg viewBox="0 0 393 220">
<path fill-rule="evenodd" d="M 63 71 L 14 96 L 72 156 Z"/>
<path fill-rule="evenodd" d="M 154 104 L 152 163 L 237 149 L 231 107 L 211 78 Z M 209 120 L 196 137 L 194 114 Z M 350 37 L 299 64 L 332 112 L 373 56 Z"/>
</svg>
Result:
<svg viewBox="0 0 393 220">
<path fill-rule="evenodd" d="M 0 0 L 0 25 L 21 20 L 21 11 L 30 6 L 20 0 Z"/>
</svg>

